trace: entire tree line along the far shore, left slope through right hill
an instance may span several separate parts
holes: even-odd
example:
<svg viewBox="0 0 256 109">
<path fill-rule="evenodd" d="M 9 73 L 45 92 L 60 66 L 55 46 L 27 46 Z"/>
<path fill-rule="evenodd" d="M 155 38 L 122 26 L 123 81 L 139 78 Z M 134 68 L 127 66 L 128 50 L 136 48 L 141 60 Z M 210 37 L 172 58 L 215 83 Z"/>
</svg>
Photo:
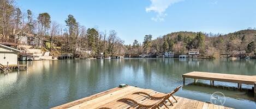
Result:
<svg viewBox="0 0 256 109">
<path fill-rule="evenodd" d="M 92 57 L 100 54 L 104 56 L 140 54 L 159 55 L 165 52 L 187 54 L 189 50 L 199 50 L 209 56 L 219 56 L 233 50 L 246 50 L 254 55 L 256 30 L 236 31 L 230 34 L 213 34 L 202 32 L 180 31 L 166 34 L 156 39 L 152 35 L 145 35 L 141 43 L 134 40 L 132 44 L 124 45 L 115 30 L 100 31 L 97 28 L 86 28 L 76 21 L 75 16 L 67 15 L 63 23 L 51 20 L 47 12 L 38 15 L 31 10 L 22 12 L 16 7 L 15 0 L 0 0 L 0 37 L 1 41 L 9 39 L 13 30 L 34 34 L 41 42 L 50 43 L 41 49 L 57 53 L 73 53 L 76 57 Z M 53 46 L 55 45 L 55 46 Z"/>
</svg>

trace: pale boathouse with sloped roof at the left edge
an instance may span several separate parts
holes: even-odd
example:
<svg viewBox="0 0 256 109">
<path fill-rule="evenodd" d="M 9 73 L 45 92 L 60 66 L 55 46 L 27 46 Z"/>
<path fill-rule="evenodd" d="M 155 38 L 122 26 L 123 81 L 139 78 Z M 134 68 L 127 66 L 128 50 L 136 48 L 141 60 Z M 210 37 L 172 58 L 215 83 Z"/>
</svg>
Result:
<svg viewBox="0 0 256 109">
<path fill-rule="evenodd" d="M 4 46 L 0 44 L 0 64 L 6 66 L 8 65 L 17 65 L 17 55 L 20 53 L 20 50 Z"/>
</svg>

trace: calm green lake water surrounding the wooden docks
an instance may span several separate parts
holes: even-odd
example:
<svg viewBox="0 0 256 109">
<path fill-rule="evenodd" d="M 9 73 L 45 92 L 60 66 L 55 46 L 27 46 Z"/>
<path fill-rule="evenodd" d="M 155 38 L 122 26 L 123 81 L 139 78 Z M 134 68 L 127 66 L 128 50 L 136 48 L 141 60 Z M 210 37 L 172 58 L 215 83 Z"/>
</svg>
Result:
<svg viewBox="0 0 256 109">
<path fill-rule="evenodd" d="M 182 74 L 192 71 L 256 75 L 256 60 L 201 59 L 121 59 L 121 60 L 58 60 L 29 62 L 27 70 L 0 74 L 0 108 L 51 108 L 87 97 L 119 84 L 170 92 L 183 85 Z M 224 106 L 256 108 L 253 92 L 237 91 L 237 84 L 186 79 L 175 95 L 210 101 L 213 92 L 226 95 Z M 243 85 L 252 88 L 252 85 Z M 230 89 L 226 89 L 230 88 Z"/>
</svg>

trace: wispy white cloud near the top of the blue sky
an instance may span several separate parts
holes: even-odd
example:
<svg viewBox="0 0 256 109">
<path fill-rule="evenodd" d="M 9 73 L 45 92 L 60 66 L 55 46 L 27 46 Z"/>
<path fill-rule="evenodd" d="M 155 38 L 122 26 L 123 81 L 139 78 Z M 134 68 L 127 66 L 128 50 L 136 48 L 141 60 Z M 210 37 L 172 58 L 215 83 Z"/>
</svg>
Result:
<svg viewBox="0 0 256 109">
<path fill-rule="evenodd" d="M 164 17 L 167 16 L 167 14 L 165 14 L 165 10 L 170 7 L 170 5 L 177 3 L 177 2 L 181 2 L 184 0 L 150 0 L 151 1 L 151 5 L 150 7 L 146 8 L 146 12 L 156 12 L 157 16 L 156 17 L 152 17 L 151 20 L 153 21 L 164 21 Z"/>
</svg>

